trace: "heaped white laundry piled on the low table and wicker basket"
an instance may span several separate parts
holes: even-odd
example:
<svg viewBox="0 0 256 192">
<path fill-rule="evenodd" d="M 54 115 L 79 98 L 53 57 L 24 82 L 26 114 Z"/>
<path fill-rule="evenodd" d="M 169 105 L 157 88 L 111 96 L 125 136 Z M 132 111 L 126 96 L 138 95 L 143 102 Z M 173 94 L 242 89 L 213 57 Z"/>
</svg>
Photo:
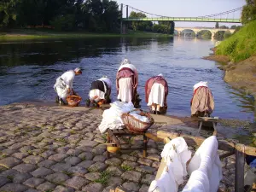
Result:
<svg viewBox="0 0 256 192">
<path fill-rule="evenodd" d="M 102 123 L 99 125 L 99 130 L 104 133 L 108 129 L 122 129 L 123 121 L 121 115 L 134 110 L 132 102 L 113 102 L 110 103 L 111 108 L 105 110 L 102 114 Z"/>
</svg>

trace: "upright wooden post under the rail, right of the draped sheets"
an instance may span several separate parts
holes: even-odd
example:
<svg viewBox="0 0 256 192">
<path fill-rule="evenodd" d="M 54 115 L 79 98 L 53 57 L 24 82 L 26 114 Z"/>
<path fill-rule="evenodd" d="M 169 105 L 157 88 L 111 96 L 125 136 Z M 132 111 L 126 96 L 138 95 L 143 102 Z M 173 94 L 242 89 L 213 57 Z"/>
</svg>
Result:
<svg viewBox="0 0 256 192">
<path fill-rule="evenodd" d="M 244 191 L 244 158 L 245 154 L 236 149 L 235 192 Z"/>
</svg>

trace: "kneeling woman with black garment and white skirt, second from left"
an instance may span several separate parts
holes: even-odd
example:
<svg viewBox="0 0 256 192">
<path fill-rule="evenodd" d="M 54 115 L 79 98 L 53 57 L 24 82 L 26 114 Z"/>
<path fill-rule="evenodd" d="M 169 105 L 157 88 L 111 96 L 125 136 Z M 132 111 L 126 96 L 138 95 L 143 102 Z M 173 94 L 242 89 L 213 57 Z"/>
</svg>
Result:
<svg viewBox="0 0 256 192">
<path fill-rule="evenodd" d="M 111 85 L 111 81 L 107 77 L 93 81 L 90 85 L 90 102 L 97 106 L 111 102 Z M 90 103 L 88 104 L 90 105 Z"/>
</svg>

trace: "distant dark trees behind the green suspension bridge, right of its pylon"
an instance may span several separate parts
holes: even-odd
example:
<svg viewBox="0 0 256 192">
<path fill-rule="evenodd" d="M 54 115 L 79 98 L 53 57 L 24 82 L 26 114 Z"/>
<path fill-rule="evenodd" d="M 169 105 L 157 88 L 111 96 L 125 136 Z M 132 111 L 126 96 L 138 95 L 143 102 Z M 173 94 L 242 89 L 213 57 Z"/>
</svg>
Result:
<svg viewBox="0 0 256 192">
<path fill-rule="evenodd" d="M 141 12 L 131 11 L 130 18 L 146 18 L 147 15 Z M 173 34 L 174 32 L 174 22 L 173 21 L 159 21 L 155 24 L 151 21 L 132 21 L 128 26 L 133 31 L 145 31 L 145 32 L 157 32 Z"/>
</svg>

